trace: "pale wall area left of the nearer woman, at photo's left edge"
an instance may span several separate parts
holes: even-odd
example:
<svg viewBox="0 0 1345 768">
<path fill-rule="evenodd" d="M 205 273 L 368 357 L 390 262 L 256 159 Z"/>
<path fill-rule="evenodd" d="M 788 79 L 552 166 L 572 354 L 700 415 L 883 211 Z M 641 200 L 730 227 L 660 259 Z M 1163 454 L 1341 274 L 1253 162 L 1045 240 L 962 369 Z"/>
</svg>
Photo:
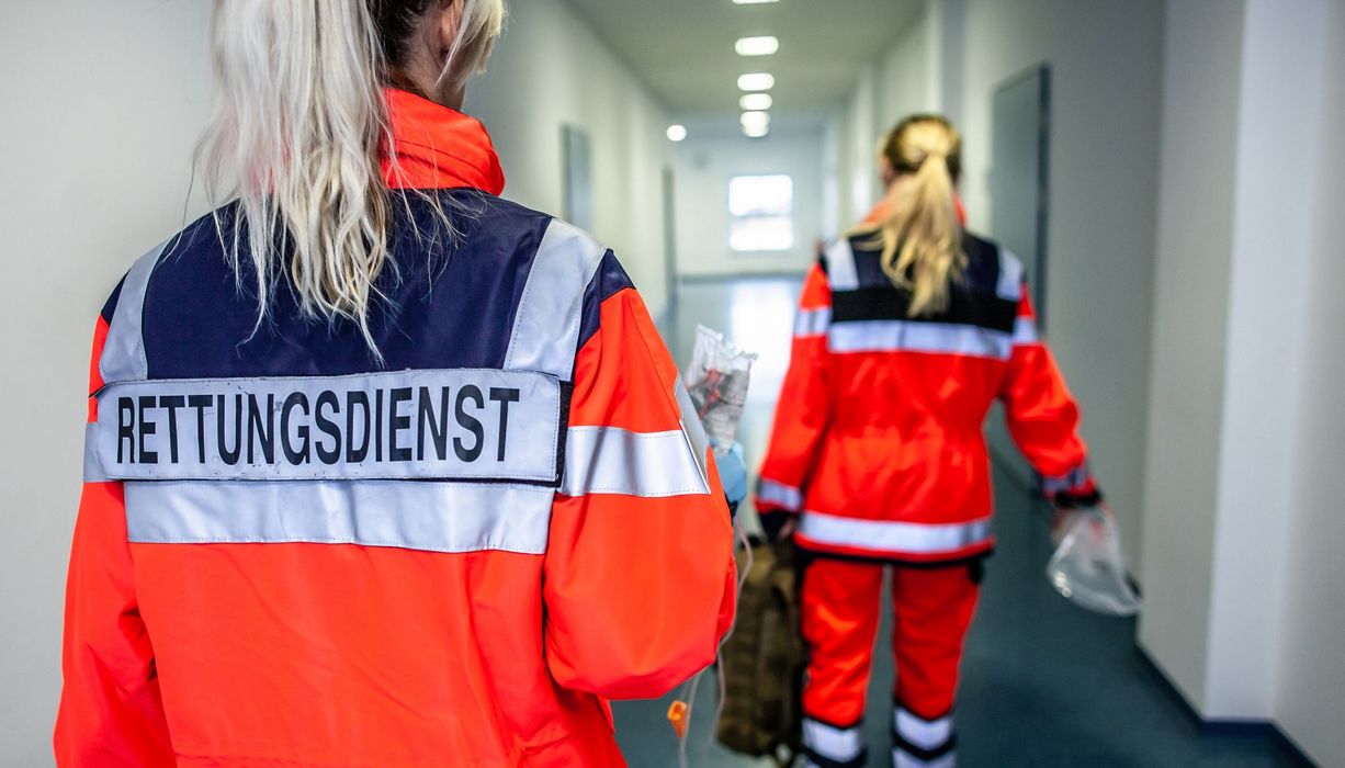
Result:
<svg viewBox="0 0 1345 768">
<path fill-rule="evenodd" d="M 208 12 L 161 0 L 4 7 L 0 765 L 51 763 L 94 319 L 130 262 L 183 223 L 210 97 Z"/>
</svg>

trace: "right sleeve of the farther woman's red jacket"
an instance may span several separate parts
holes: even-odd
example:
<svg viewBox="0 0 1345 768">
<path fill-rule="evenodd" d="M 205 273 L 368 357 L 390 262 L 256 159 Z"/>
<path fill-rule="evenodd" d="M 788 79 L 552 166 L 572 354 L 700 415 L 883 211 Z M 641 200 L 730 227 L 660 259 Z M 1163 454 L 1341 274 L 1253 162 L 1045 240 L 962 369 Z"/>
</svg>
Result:
<svg viewBox="0 0 1345 768">
<path fill-rule="evenodd" d="M 1041 475 L 1041 490 L 1060 506 L 1102 499 L 1088 469 L 1088 447 L 1079 436 L 1079 405 L 1037 335 L 1037 316 L 1026 286 L 1018 300 L 1013 352 L 999 390 L 1009 433 Z"/>
</svg>

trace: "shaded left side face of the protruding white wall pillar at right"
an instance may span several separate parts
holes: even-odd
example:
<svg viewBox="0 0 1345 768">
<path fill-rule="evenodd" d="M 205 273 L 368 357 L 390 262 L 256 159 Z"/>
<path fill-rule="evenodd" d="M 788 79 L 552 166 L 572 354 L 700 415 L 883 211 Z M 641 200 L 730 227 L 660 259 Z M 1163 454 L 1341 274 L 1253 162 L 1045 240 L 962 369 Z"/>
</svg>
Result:
<svg viewBox="0 0 1345 768">
<path fill-rule="evenodd" d="M 1243 1 L 1167 5 L 1141 644 L 1206 703 Z"/>
</svg>

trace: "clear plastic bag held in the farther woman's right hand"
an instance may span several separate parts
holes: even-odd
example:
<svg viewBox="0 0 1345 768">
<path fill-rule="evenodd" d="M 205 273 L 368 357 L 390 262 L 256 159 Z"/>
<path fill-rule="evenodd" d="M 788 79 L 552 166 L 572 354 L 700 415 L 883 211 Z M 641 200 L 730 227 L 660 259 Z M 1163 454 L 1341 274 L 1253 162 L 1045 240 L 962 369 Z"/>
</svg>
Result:
<svg viewBox="0 0 1345 768">
<path fill-rule="evenodd" d="M 1108 616 L 1134 616 L 1139 593 L 1126 570 L 1120 529 L 1102 510 L 1075 510 L 1060 523 L 1064 537 L 1046 565 L 1046 580 L 1081 608 Z"/>
</svg>

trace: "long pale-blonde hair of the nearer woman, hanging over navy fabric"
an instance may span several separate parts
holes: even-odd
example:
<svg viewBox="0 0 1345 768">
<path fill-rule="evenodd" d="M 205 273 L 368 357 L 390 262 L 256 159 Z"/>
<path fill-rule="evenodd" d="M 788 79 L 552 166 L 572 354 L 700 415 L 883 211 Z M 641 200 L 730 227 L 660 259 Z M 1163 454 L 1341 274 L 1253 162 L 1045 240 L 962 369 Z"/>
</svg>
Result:
<svg viewBox="0 0 1345 768">
<path fill-rule="evenodd" d="M 285 276 L 305 317 L 356 323 L 381 358 L 369 315 L 391 256 L 383 89 L 402 82 L 418 22 L 453 3 L 441 82 L 465 85 L 500 34 L 503 0 L 215 0 L 215 108 L 196 165 L 239 289 L 250 268 L 258 328 Z"/>
</svg>

